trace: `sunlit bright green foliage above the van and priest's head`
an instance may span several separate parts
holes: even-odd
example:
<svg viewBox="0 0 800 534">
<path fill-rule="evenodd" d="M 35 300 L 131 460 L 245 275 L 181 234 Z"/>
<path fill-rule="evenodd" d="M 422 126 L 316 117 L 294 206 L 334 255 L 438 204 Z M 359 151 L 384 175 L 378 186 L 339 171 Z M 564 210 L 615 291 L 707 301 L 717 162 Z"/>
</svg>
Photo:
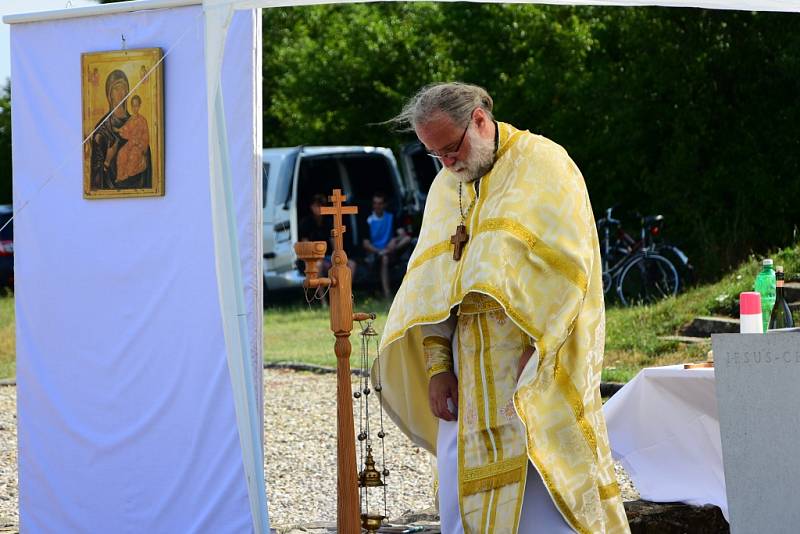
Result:
<svg viewBox="0 0 800 534">
<path fill-rule="evenodd" d="M 506 119 L 527 123 L 569 86 L 591 41 L 571 8 L 382 3 L 263 13 L 271 146 L 396 143 L 377 124 L 420 86 L 452 79 L 484 85 Z M 542 46 L 532 50 L 531 40 Z"/>
</svg>

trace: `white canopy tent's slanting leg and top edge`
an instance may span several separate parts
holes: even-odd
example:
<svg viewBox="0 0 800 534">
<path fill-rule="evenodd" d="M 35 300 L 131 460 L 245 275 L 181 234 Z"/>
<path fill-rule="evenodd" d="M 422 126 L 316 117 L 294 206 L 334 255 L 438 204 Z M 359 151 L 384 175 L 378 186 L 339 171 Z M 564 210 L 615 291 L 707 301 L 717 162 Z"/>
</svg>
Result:
<svg viewBox="0 0 800 534">
<path fill-rule="evenodd" d="M 390 0 L 398 1 L 398 0 Z M 457 0 L 445 0 L 457 1 Z M 471 0 L 470 0 L 471 1 Z M 274 8 L 329 3 L 363 3 L 357 0 L 138 0 L 97 7 L 51 11 L 45 14 L 9 16 L 10 24 L 63 20 L 94 14 L 114 14 L 131 11 L 167 9 L 203 5 L 205 27 L 205 64 L 208 107 L 208 150 L 211 210 L 215 245 L 216 276 L 222 315 L 228 368 L 235 400 L 239 440 L 247 476 L 253 529 L 268 532 L 267 502 L 263 477 L 258 399 L 254 394 L 255 378 L 250 362 L 250 340 L 246 323 L 244 291 L 239 269 L 239 244 L 236 212 L 231 189 L 231 162 L 228 154 L 225 110 L 222 92 L 222 64 L 228 29 L 236 10 Z M 800 12 L 800 0 L 489 0 L 486 3 L 533 3 L 554 5 L 594 6 L 664 6 L 745 11 Z M 257 51 L 261 53 L 260 50 Z M 260 114 L 256 120 L 259 122 Z"/>
</svg>

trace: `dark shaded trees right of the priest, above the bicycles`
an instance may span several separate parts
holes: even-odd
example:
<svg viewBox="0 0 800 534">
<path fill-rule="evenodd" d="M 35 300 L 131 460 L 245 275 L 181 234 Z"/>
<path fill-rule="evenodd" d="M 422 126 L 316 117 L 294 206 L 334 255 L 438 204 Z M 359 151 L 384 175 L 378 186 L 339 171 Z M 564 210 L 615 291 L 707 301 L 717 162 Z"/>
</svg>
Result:
<svg viewBox="0 0 800 534">
<path fill-rule="evenodd" d="M 661 212 L 706 277 L 792 241 L 800 221 L 796 17 L 596 8 L 598 46 L 559 130 L 595 208 Z M 554 134 L 555 136 L 555 134 Z"/>
</svg>

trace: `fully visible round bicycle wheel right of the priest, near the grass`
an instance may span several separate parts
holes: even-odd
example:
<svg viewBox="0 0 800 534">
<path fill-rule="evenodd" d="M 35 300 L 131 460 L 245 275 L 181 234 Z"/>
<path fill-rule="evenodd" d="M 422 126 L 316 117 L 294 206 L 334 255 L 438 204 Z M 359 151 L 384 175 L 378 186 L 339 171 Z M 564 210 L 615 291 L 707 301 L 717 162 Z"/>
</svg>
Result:
<svg viewBox="0 0 800 534">
<path fill-rule="evenodd" d="M 623 306 L 652 304 L 676 295 L 678 271 L 668 259 L 642 254 L 622 268 L 617 278 L 617 295 Z"/>
</svg>

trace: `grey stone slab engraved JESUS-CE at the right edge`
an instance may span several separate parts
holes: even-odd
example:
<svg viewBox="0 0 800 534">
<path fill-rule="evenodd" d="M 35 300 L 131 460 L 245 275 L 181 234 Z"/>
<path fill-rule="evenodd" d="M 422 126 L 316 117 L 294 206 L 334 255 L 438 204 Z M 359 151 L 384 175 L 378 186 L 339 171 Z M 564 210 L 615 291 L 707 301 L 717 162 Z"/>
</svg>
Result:
<svg viewBox="0 0 800 534">
<path fill-rule="evenodd" d="M 712 336 L 733 534 L 800 525 L 800 329 Z"/>
</svg>

